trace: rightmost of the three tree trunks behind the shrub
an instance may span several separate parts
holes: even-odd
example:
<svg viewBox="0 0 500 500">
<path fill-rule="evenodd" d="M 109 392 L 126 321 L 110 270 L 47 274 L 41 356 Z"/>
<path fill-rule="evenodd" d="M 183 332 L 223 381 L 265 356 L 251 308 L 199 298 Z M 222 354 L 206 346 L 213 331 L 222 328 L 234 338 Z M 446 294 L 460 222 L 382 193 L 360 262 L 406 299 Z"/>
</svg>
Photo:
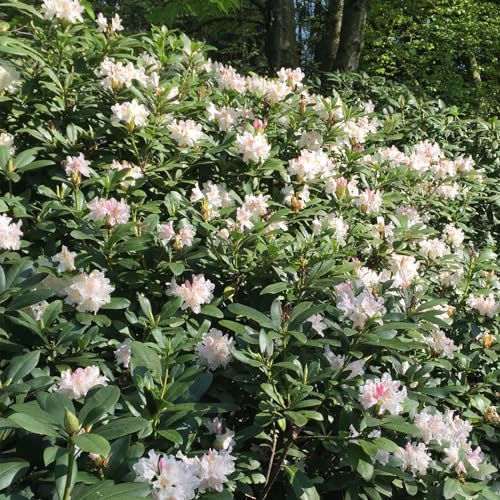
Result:
<svg viewBox="0 0 500 500">
<path fill-rule="evenodd" d="M 363 50 L 368 0 L 345 0 L 335 69 L 357 71 Z"/>
</svg>

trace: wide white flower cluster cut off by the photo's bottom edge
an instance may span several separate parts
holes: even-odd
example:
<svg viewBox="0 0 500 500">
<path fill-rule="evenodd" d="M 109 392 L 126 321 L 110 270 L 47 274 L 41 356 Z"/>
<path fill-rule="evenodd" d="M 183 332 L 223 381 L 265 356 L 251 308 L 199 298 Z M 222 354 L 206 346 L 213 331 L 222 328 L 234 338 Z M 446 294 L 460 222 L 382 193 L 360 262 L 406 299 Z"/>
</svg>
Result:
<svg viewBox="0 0 500 500">
<path fill-rule="evenodd" d="M 209 450 L 195 458 L 150 450 L 134 465 L 135 480 L 149 483 L 155 498 L 190 500 L 197 492 L 221 492 L 235 470 L 235 460 L 226 450 Z"/>
</svg>

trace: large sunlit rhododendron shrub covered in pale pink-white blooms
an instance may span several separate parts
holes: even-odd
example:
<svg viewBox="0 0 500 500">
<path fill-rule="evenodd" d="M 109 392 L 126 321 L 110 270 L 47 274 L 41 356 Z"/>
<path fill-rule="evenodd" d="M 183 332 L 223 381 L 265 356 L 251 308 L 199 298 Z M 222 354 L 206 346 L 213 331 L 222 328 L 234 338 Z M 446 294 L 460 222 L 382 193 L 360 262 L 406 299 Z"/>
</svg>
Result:
<svg viewBox="0 0 500 500">
<path fill-rule="evenodd" d="M 2 8 L 2 498 L 497 498 L 494 140 Z"/>
</svg>

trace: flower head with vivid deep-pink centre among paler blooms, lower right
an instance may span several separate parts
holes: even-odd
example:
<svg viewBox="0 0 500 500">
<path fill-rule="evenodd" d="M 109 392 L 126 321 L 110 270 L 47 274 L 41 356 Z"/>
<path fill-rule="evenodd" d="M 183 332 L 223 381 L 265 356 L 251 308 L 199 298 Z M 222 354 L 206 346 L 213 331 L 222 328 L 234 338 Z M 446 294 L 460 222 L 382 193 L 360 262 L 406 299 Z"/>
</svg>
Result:
<svg viewBox="0 0 500 500">
<path fill-rule="evenodd" d="M 399 415 L 407 397 L 406 387 L 399 389 L 400 386 L 399 380 L 392 380 L 389 373 L 384 373 L 382 378 L 365 382 L 360 389 L 359 401 L 365 410 L 377 406 L 378 415 L 386 411 L 391 415 Z"/>
</svg>

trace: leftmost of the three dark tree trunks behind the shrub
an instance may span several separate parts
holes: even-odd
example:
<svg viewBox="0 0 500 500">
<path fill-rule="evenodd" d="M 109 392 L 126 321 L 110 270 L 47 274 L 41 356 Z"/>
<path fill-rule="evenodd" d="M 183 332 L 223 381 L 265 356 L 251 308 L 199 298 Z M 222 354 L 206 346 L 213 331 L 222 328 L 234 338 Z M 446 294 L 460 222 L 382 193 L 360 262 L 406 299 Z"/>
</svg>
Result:
<svg viewBox="0 0 500 500">
<path fill-rule="evenodd" d="M 295 34 L 294 0 L 267 1 L 266 55 L 271 72 L 281 67 L 295 68 L 299 64 Z"/>
</svg>

